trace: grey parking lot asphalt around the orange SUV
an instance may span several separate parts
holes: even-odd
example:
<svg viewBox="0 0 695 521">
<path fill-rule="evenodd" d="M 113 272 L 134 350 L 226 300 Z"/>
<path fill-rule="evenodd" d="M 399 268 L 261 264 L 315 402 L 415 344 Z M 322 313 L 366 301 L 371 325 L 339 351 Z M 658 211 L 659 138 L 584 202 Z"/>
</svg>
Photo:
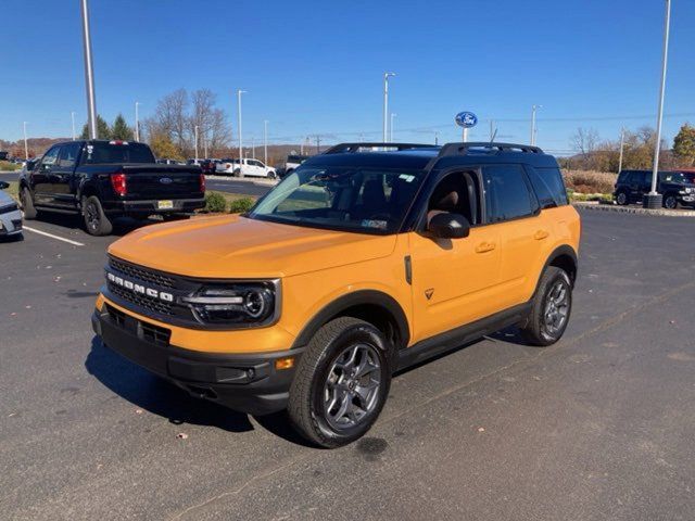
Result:
<svg viewBox="0 0 695 521">
<path fill-rule="evenodd" d="M 695 227 L 582 218 L 558 344 L 511 329 L 404 372 L 337 450 L 103 347 L 89 317 L 116 238 L 33 221 L 85 245 L 0 243 L 0 517 L 693 519 Z"/>
</svg>

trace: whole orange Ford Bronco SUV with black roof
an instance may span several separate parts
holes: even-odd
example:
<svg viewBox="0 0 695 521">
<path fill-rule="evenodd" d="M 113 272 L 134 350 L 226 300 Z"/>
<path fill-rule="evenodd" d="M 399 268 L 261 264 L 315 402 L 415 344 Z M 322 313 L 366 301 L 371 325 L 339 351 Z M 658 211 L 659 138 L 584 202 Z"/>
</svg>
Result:
<svg viewBox="0 0 695 521">
<path fill-rule="evenodd" d="M 287 408 L 336 447 L 367 432 L 404 367 L 513 325 L 559 340 L 579 238 L 535 147 L 341 144 L 248 214 L 114 242 L 92 326 L 189 393 Z"/>
</svg>

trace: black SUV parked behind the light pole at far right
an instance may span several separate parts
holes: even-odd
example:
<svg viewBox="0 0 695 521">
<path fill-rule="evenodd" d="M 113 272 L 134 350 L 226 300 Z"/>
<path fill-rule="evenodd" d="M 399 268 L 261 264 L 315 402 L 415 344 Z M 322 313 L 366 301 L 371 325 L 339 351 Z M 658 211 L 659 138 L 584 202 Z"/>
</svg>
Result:
<svg viewBox="0 0 695 521">
<path fill-rule="evenodd" d="M 664 195 L 665 208 L 695 206 L 695 180 L 682 171 L 659 171 L 657 192 Z M 622 170 L 616 181 L 614 198 L 624 205 L 641 203 L 644 194 L 652 190 L 652 170 Z"/>
</svg>

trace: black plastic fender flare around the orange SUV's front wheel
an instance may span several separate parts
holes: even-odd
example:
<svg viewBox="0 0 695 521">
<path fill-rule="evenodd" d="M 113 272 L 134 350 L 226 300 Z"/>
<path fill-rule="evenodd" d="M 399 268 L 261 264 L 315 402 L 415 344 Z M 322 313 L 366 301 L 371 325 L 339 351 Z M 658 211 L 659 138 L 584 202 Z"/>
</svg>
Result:
<svg viewBox="0 0 695 521">
<path fill-rule="evenodd" d="M 305 346 L 326 322 L 340 316 L 351 307 L 359 305 L 374 305 L 384 309 L 391 316 L 397 328 L 396 333 L 401 345 L 394 346 L 394 351 L 397 352 L 399 347 L 407 345 L 410 338 L 410 330 L 405 312 L 399 302 L 382 291 L 358 290 L 336 298 L 314 315 L 304 328 L 302 328 L 302 331 L 292 344 L 292 348 Z"/>
</svg>

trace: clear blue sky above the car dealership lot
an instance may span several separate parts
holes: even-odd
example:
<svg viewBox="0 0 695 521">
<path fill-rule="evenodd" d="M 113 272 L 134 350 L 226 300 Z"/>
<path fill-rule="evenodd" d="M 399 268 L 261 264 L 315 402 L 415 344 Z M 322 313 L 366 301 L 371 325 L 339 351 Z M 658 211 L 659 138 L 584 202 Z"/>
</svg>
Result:
<svg viewBox="0 0 695 521">
<path fill-rule="evenodd" d="M 4 0 L 0 138 L 66 137 L 86 115 L 77 0 Z M 396 140 L 459 139 L 454 115 L 473 111 L 485 139 L 561 153 L 577 127 L 617 138 L 655 125 L 662 0 L 452 0 L 380 2 L 90 0 L 97 104 L 131 123 L 179 87 L 210 88 L 236 135 L 299 142 L 380 139 L 384 71 Z M 665 135 L 695 122 L 695 2 L 673 0 Z M 244 139 L 245 141 L 245 139 Z"/>
</svg>

